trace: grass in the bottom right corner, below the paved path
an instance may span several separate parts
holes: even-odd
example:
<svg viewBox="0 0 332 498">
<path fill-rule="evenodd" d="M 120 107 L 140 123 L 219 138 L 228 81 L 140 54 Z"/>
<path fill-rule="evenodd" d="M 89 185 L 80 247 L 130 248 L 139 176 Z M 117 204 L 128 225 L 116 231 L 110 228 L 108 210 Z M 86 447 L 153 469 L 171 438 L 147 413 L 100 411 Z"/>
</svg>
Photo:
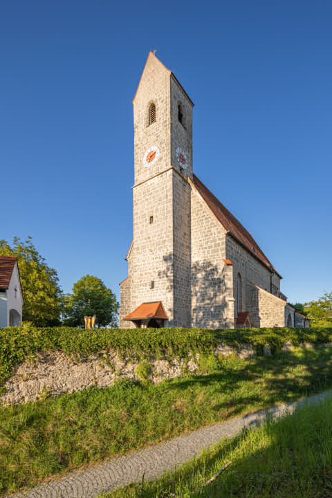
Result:
<svg viewBox="0 0 332 498">
<path fill-rule="evenodd" d="M 203 486 L 223 465 L 231 465 Z M 173 474 L 100 498 L 332 497 L 332 398 L 246 429 Z"/>
</svg>

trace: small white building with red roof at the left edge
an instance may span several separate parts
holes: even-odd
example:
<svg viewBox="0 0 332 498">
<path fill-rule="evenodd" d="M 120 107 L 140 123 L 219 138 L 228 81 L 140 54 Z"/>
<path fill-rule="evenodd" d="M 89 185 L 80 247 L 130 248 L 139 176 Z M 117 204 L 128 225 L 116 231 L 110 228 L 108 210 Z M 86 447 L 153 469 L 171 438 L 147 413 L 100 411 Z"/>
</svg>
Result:
<svg viewBox="0 0 332 498">
<path fill-rule="evenodd" d="M 0 256 L 0 328 L 20 325 L 22 306 L 17 258 Z"/>
</svg>

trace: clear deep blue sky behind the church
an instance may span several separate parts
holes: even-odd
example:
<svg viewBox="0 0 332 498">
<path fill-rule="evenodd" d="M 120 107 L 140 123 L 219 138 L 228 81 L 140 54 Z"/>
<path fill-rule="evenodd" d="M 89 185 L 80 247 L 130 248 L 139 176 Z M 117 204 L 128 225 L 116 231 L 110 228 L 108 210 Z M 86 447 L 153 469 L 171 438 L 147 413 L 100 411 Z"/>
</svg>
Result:
<svg viewBox="0 0 332 498">
<path fill-rule="evenodd" d="M 133 95 L 149 50 L 194 101 L 194 172 L 304 302 L 332 290 L 332 3 L 7 1 L 0 238 L 64 291 L 114 292 L 132 237 Z"/>
</svg>

